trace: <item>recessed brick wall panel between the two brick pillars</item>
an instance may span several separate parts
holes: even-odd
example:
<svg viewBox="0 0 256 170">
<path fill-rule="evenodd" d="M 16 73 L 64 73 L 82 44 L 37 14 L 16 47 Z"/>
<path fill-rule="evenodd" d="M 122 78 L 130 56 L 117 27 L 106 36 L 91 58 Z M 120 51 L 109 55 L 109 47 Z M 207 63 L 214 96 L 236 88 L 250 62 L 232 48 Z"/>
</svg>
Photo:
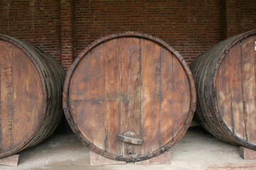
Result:
<svg viewBox="0 0 256 170">
<path fill-rule="evenodd" d="M 74 2 L 75 55 L 104 35 L 149 33 L 176 48 L 187 62 L 220 36 L 220 1 L 108 0 Z"/>
</svg>

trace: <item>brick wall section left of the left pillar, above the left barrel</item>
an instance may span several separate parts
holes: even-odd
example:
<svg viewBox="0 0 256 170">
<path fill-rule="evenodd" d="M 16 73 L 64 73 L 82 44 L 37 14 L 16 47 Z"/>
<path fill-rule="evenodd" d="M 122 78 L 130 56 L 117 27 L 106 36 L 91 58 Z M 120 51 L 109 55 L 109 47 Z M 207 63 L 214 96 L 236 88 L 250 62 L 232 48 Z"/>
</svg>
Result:
<svg viewBox="0 0 256 170">
<path fill-rule="evenodd" d="M 38 45 L 60 62 L 60 1 L 1 0 L 0 33 Z"/>
</svg>

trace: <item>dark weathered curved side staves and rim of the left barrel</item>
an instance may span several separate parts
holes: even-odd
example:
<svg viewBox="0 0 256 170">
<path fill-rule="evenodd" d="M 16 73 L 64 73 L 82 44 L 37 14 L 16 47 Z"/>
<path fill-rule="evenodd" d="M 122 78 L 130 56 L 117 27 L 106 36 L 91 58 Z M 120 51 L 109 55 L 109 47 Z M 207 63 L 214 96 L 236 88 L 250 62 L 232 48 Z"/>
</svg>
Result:
<svg viewBox="0 0 256 170">
<path fill-rule="evenodd" d="M 4 40 L 6 42 L 9 42 L 13 45 L 16 45 L 19 49 L 21 49 L 33 62 L 35 65 L 38 74 L 41 78 L 42 89 L 43 89 L 43 113 L 42 113 L 42 119 L 40 122 L 40 125 L 38 125 L 38 128 L 34 130 L 33 134 L 28 137 L 27 140 L 25 140 L 21 145 L 18 145 L 15 148 L 12 148 L 8 152 L 4 152 L 0 154 L 1 157 L 7 157 L 11 154 L 14 154 L 16 152 L 19 152 L 23 149 L 27 149 L 28 147 L 32 147 L 33 145 L 38 144 L 39 142 L 42 142 L 43 140 L 46 140 L 46 138 L 53 133 L 53 130 L 57 128 L 58 123 L 60 122 L 60 118 L 62 117 L 62 108 L 61 108 L 61 100 L 62 100 L 62 91 L 63 91 L 63 82 L 65 79 L 65 70 L 61 67 L 60 64 L 58 64 L 53 57 L 50 57 L 46 52 L 43 52 L 40 48 L 36 47 L 35 45 L 31 45 L 28 42 L 24 42 L 23 40 L 18 40 L 16 38 L 11 38 L 7 35 L 1 35 L 0 34 L 0 40 Z M 36 50 L 41 51 L 36 52 Z M 43 56 L 45 55 L 45 56 Z M 44 57 L 48 56 L 48 59 L 46 60 Z M 56 69 L 55 72 L 58 74 L 59 79 L 53 79 L 53 70 L 50 70 L 53 66 Z M 54 80 L 54 81 L 49 81 Z M 56 88 L 56 93 L 58 94 L 58 103 L 59 106 L 58 111 L 54 111 L 54 107 L 48 107 L 48 102 L 53 102 L 54 98 L 50 98 L 49 96 L 56 96 L 56 94 L 51 93 L 49 89 Z M 49 118 L 50 115 L 54 115 L 52 119 L 49 121 L 46 121 L 47 118 Z M 56 121 L 58 120 L 58 121 Z M 57 123 L 55 123 L 57 122 Z M 55 124 L 53 124 L 55 123 Z M 46 131 L 47 127 L 50 127 L 50 125 L 53 125 L 52 128 L 49 128 Z"/>
</svg>

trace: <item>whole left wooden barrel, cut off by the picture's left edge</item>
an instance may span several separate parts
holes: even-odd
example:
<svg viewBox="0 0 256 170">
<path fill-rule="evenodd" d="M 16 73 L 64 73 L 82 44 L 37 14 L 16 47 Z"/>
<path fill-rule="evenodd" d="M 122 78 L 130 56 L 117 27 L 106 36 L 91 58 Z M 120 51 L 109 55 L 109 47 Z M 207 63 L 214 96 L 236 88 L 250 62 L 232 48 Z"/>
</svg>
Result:
<svg viewBox="0 0 256 170">
<path fill-rule="evenodd" d="M 38 144 L 58 125 L 64 69 L 40 48 L 0 35 L 0 157 Z"/>
</svg>

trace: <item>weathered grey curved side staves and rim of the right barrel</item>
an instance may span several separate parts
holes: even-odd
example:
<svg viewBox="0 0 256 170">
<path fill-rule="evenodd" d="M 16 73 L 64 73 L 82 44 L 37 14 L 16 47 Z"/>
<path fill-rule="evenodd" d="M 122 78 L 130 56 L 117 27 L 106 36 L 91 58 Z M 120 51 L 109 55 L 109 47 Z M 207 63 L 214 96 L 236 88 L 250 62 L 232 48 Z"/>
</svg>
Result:
<svg viewBox="0 0 256 170">
<path fill-rule="evenodd" d="M 218 75 L 218 69 L 220 67 L 220 64 L 223 58 L 225 57 L 225 54 L 235 44 L 237 44 L 242 40 L 245 40 L 246 38 L 249 38 L 252 35 L 256 35 L 256 30 L 250 30 L 246 33 L 235 35 L 232 38 L 228 38 L 226 40 L 218 42 L 218 44 L 213 45 L 206 52 L 203 52 L 203 54 L 198 55 L 196 60 L 194 60 L 191 63 L 190 68 L 191 68 L 191 72 L 193 73 L 193 77 L 194 77 L 196 89 L 197 89 L 197 104 L 196 104 L 196 113 L 195 113 L 196 120 L 198 120 L 198 122 L 203 126 L 203 128 L 205 128 L 208 132 L 210 132 L 212 135 L 217 137 L 219 140 L 229 142 L 233 145 L 242 145 L 250 149 L 256 149 L 256 145 L 253 145 L 250 142 L 241 140 L 240 137 L 238 137 L 233 132 L 231 132 L 228 129 L 227 125 L 225 125 L 223 120 L 220 118 L 218 114 L 218 101 L 217 101 L 217 89 L 216 89 L 216 79 Z M 211 58 L 211 61 L 210 61 L 211 65 L 210 67 L 207 68 L 207 71 L 206 71 L 207 72 L 206 74 L 208 76 L 205 76 L 206 81 L 198 81 L 198 77 L 203 77 L 201 74 L 204 73 L 202 71 L 202 68 L 199 67 L 198 65 L 202 63 L 206 64 L 205 60 L 209 53 L 210 55 L 208 58 Z M 200 64 L 198 64 L 199 63 L 198 61 L 201 61 Z M 203 89 L 200 88 L 200 86 L 206 87 L 208 91 L 203 91 Z M 201 96 L 203 96 L 203 98 L 207 98 L 207 94 L 209 96 L 208 100 L 202 100 L 200 98 Z M 208 111 L 209 110 L 210 111 L 208 113 L 202 112 L 200 103 L 206 103 L 206 106 L 208 106 L 208 108 L 204 108 L 204 109 L 205 110 L 208 109 Z M 208 115 L 211 116 L 211 119 L 206 120 L 206 117 L 209 118 Z"/>
</svg>

